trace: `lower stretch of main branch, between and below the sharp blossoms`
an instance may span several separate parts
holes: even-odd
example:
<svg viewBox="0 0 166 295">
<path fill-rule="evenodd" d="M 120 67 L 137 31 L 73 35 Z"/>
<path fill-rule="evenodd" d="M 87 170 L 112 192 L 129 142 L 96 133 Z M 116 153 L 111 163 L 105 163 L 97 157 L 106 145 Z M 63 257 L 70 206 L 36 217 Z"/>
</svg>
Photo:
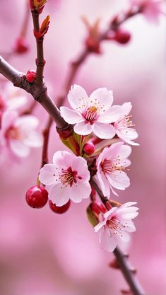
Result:
<svg viewBox="0 0 166 295">
<path fill-rule="evenodd" d="M 107 197 L 104 197 L 102 194 L 102 191 L 98 187 L 97 183 L 93 178 L 91 178 L 90 182 L 93 184 L 93 187 L 95 188 L 97 194 L 99 195 L 101 201 L 106 205 L 107 202 L 109 202 L 109 199 Z M 121 270 L 121 272 L 124 274 L 124 278 L 126 279 L 126 282 L 129 284 L 129 287 L 134 295 L 144 295 L 143 288 L 141 287 L 141 284 L 138 282 L 138 279 L 136 278 L 136 271 L 133 267 L 131 267 L 131 264 L 128 260 L 128 255 L 124 254 L 119 250 L 119 248 L 116 248 L 114 250 L 114 255 L 117 259 L 117 265 L 118 268 Z"/>
</svg>

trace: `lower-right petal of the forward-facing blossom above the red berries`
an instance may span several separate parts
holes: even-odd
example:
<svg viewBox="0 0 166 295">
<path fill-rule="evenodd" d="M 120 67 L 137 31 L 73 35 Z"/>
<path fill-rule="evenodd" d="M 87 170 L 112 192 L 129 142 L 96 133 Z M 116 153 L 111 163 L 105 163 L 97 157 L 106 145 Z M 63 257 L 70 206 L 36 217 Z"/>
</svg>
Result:
<svg viewBox="0 0 166 295">
<path fill-rule="evenodd" d="M 90 196 L 90 183 L 78 182 L 73 184 L 70 189 L 70 199 L 75 203 L 80 203 L 82 199 L 87 199 Z"/>
</svg>

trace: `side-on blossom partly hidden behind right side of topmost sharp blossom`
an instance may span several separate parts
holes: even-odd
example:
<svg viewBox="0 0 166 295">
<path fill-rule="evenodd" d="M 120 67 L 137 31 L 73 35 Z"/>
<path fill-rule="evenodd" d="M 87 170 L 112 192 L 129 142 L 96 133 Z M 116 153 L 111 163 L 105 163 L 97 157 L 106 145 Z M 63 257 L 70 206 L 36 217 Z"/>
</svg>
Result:
<svg viewBox="0 0 166 295">
<path fill-rule="evenodd" d="M 124 103 L 123 105 L 121 105 L 121 108 L 123 110 L 123 116 L 114 123 L 117 136 L 125 141 L 127 144 L 138 146 L 139 144 L 133 141 L 133 139 L 136 139 L 138 137 L 138 133 L 136 132 L 136 129 L 131 128 L 134 127 L 134 124 L 131 121 L 132 116 L 129 116 L 132 105 L 131 103 Z"/>
</svg>

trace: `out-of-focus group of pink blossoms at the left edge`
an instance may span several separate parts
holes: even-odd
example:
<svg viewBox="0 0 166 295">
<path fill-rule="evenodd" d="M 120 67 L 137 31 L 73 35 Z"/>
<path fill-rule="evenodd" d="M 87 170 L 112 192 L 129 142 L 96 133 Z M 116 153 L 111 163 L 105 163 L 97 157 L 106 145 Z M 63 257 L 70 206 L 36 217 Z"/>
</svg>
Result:
<svg viewBox="0 0 166 295">
<path fill-rule="evenodd" d="M 6 85 L 0 96 L 0 150 L 12 158 L 26 157 L 31 147 L 42 146 L 42 135 L 36 131 L 39 120 L 33 115 L 21 115 L 27 98 L 21 91 Z"/>
</svg>

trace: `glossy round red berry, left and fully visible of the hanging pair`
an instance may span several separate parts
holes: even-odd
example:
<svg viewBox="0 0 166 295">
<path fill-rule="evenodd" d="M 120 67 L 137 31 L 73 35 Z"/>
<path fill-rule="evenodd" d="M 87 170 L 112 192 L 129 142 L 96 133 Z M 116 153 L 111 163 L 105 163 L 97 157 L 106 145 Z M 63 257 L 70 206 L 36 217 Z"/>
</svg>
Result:
<svg viewBox="0 0 166 295">
<path fill-rule="evenodd" d="M 32 208 L 42 208 L 47 204 L 48 192 L 44 187 L 35 185 L 26 192 L 25 199 Z"/>
</svg>

